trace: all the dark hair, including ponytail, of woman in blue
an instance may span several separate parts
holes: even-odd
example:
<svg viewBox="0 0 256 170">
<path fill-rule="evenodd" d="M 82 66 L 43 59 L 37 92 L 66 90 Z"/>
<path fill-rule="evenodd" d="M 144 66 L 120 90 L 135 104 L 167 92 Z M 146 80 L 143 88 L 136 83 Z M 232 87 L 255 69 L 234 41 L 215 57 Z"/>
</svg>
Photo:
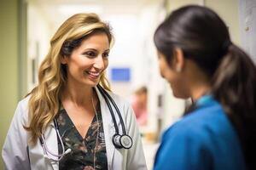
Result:
<svg viewBox="0 0 256 170">
<path fill-rule="evenodd" d="M 247 167 L 256 168 L 256 68 L 230 41 L 228 27 L 210 8 L 185 6 L 170 14 L 154 33 L 157 50 L 171 67 L 174 48 L 181 48 L 211 80 L 212 95 L 236 128 Z"/>
</svg>

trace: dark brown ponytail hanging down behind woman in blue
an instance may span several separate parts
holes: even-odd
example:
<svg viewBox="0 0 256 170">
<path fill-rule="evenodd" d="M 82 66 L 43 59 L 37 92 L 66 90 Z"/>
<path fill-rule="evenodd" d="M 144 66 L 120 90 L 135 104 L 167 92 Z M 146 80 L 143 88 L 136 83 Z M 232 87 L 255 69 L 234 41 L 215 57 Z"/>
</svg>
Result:
<svg viewBox="0 0 256 170">
<path fill-rule="evenodd" d="M 248 169 L 256 169 L 256 67 L 230 44 L 212 78 L 212 95 L 223 105 L 238 133 Z"/>
</svg>

